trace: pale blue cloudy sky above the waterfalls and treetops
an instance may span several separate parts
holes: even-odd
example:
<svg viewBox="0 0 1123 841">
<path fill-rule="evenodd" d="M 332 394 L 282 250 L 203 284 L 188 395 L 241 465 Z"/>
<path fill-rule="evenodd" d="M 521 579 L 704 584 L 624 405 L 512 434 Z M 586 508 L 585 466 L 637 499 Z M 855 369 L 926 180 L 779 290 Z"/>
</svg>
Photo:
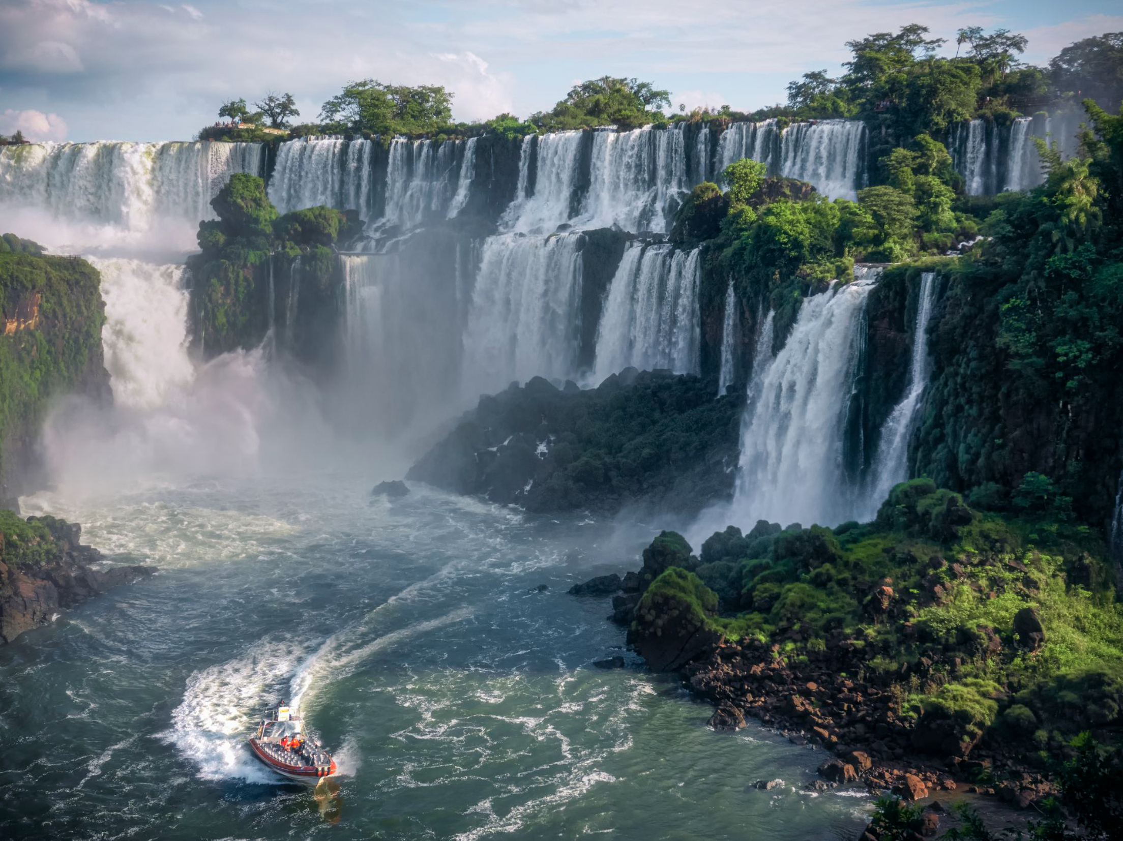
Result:
<svg viewBox="0 0 1123 841">
<path fill-rule="evenodd" d="M 347 82 L 442 84 L 457 120 L 546 110 L 637 76 L 675 106 L 754 110 L 846 42 L 904 24 L 1024 34 L 1023 60 L 1123 30 L 1119 0 L 0 0 L 0 134 L 191 139 L 227 99 L 291 92 L 300 120 Z"/>
</svg>

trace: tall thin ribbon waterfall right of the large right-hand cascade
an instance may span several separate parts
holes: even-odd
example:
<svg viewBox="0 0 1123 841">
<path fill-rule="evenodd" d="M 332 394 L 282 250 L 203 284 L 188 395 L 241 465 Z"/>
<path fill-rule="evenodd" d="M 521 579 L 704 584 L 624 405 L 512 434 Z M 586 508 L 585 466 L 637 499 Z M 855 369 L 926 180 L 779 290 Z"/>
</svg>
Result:
<svg viewBox="0 0 1123 841">
<path fill-rule="evenodd" d="M 882 427 L 880 442 L 874 461 L 874 482 L 869 494 L 873 518 L 877 509 L 898 482 L 909 478 L 909 438 L 919 419 L 921 397 L 928 387 L 931 358 L 928 350 L 928 322 L 935 303 L 935 272 L 921 275 L 920 295 L 916 300 L 916 322 L 913 327 L 912 362 L 909 382 L 901 402 L 894 406 Z"/>
</svg>

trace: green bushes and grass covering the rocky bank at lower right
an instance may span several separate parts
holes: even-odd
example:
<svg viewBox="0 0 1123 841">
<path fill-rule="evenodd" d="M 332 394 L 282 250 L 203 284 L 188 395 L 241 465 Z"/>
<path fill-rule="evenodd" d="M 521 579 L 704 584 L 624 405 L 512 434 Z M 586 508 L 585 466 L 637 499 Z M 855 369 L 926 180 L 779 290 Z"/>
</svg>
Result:
<svg viewBox="0 0 1123 841">
<path fill-rule="evenodd" d="M 758 523 L 715 534 L 702 558 L 685 561 L 697 576 L 664 574 L 660 592 L 792 662 L 851 640 L 905 715 L 953 717 L 968 738 L 997 725 L 1042 749 L 1061 749 L 1074 729 L 1123 725 L 1123 605 L 1102 541 L 1063 517 L 976 511 L 916 479 L 871 523 Z M 718 596 L 734 615 L 704 610 Z M 1044 630 L 1037 649 L 1014 631 L 1025 607 Z"/>
</svg>

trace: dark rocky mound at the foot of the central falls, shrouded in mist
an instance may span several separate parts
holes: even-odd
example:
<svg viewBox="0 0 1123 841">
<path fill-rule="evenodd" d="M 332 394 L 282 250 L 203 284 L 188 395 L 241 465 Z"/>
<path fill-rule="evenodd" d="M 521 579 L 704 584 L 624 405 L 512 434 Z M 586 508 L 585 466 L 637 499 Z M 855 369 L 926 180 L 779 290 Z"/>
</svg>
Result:
<svg viewBox="0 0 1123 841">
<path fill-rule="evenodd" d="M 596 388 L 535 377 L 483 396 L 405 478 L 528 511 L 699 511 L 729 499 L 743 394 L 626 369 Z"/>
</svg>

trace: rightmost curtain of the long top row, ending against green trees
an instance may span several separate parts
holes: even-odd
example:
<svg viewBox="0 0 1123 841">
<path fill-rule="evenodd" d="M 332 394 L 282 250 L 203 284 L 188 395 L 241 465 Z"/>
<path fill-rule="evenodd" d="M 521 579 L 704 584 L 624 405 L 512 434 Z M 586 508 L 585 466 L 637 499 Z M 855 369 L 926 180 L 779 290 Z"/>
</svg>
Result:
<svg viewBox="0 0 1123 841">
<path fill-rule="evenodd" d="M 796 122 L 784 130 L 780 175 L 798 179 L 831 199 L 858 198 L 866 145 L 861 120 Z"/>
</svg>

